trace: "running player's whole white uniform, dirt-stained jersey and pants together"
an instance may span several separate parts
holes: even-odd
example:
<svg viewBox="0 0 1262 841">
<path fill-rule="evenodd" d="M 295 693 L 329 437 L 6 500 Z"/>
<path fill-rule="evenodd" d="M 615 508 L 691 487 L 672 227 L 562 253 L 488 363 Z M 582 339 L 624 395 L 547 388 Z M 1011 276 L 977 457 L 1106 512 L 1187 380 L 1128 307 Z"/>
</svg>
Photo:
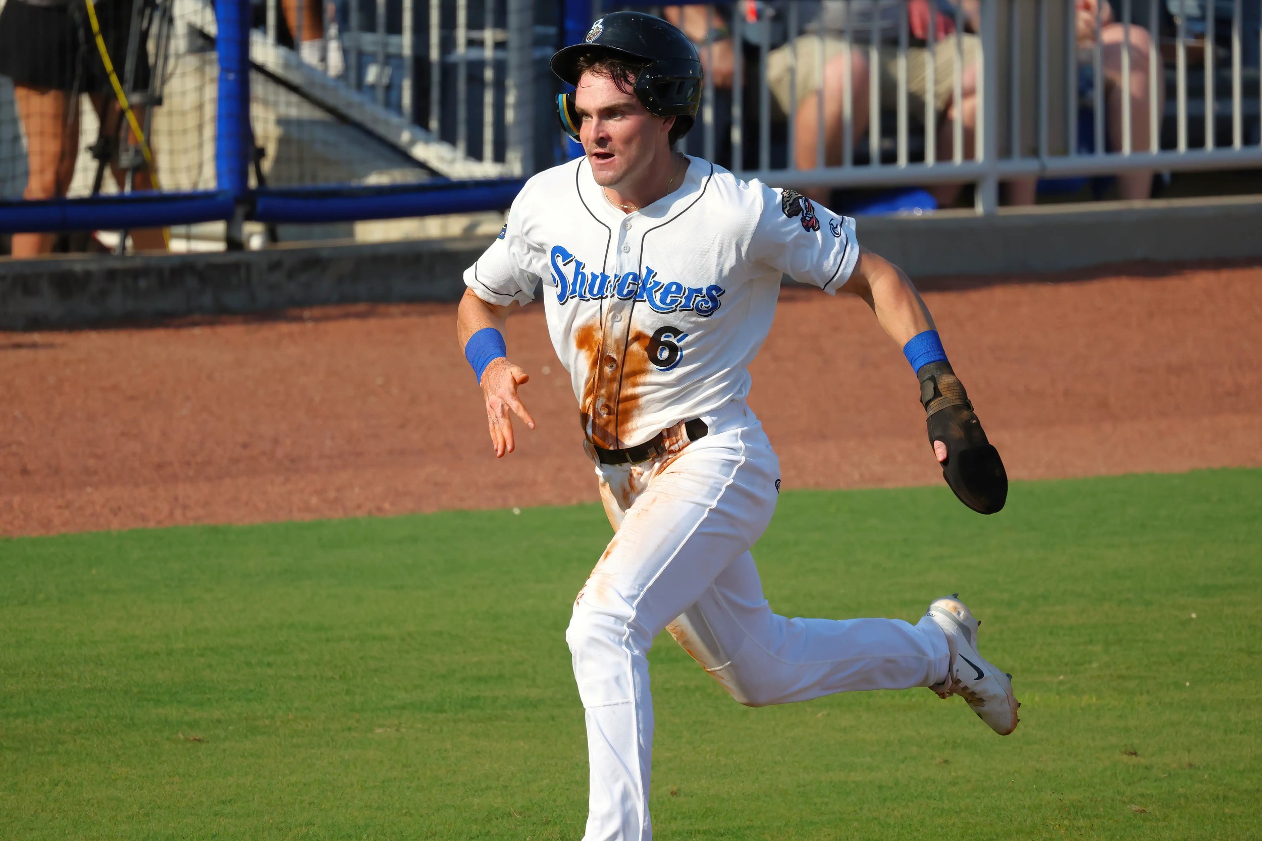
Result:
<svg viewBox="0 0 1262 841">
<path fill-rule="evenodd" d="M 635 213 L 587 159 L 540 173 L 464 274 L 482 300 L 543 295 L 553 347 L 592 446 L 641 444 L 705 417 L 705 436 L 634 464 L 593 458 L 617 535 L 578 591 L 565 641 L 584 707 L 584 841 L 651 841 L 647 652 L 663 629 L 751 706 L 943 682 L 934 619 L 787 619 L 750 547 L 771 519 L 780 460 L 743 398 L 782 275 L 835 293 L 854 222 L 793 190 L 693 158 L 678 190 Z"/>
</svg>

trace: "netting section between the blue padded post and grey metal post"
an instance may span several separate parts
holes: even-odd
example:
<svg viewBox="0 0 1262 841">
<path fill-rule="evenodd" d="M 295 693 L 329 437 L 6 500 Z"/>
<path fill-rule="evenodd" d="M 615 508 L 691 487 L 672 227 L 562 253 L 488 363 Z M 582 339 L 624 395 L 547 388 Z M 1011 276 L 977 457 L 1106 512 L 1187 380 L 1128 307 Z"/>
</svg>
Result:
<svg viewBox="0 0 1262 841">
<path fill-rule="evenodd" d="M 510 171 L 505 0 L 260 0 L 254 20 L 268 187 Z"/>
</svg>

